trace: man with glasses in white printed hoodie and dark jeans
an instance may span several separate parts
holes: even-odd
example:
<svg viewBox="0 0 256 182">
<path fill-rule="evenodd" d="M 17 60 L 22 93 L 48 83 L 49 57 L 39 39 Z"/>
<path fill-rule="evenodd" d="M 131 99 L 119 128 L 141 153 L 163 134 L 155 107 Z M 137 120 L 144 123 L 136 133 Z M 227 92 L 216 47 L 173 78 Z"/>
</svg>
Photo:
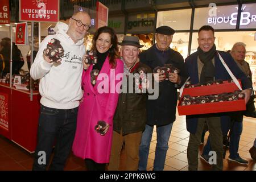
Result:
<svg viewBox="0 0 256 182">
<path fill-rule="evenodd" d="M 40 79 L 39 92 L 41 109 L 38 125 L 38 143 L 32 170 L 46 170 L 55 146 L 50 170 L 61 171 L 71 151 L 75 137 L 79 101 L 82 98 L 81 77 L 84 36 L 90 28 L 90 15 L 78 12 L 69 23 L 57 22 L 55 35 L 48 35 L 42 43 L 30 75 Z M 51 39 L 60 41 L 64 49 L 61 61 L 55 63 L 43 51 Z"/>
</svg>

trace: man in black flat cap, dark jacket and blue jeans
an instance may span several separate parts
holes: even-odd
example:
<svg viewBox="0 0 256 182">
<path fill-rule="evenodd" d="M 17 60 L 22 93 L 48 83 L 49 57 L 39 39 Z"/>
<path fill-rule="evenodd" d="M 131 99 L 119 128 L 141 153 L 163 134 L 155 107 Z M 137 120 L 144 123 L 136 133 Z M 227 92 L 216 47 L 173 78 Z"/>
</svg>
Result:
<svg viewBox="0 0 256 182">
<path fill-rule="evenodd" d="M 164 64 L 171 64 L 179 69 L 180 72 L 179 74 L 171 73 L 168 77 L 158 73 L 154 75 L 155 80 L 159 82 L 159 97 L 156 100 L 147 100 L 147 122 L 142 133 L 141 145 L 139 146 L 138 169 L 140 171 L 147 169 L 148 151 L 154 125 L 156 125 L 157 143 L 153 170 L 162 171 L 164 169 L 168 141 L 172 124 L 175 121 L 177 88 L 183 85 L 187 79 L 183 57 L 179 52 L 170 48 L 175 31 L 171 27 L 161 26 L 156 28 L 155 32 L 156 44 L 143 51 L 139 58 L 151 69 L 164 67 Z"/>
</svg>

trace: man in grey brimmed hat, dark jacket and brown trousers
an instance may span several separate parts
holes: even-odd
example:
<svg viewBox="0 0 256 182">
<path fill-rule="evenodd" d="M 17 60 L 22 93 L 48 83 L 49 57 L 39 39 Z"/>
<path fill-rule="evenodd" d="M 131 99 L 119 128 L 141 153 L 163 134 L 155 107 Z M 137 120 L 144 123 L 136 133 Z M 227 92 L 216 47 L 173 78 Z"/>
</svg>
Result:
<svg viewBox="0 0 256 182">
<path fill-rule="evenodd" d="M 143 70 L 144 73 L 152 73 L 150 67 L 139 61 L 138 55 L 141 46 L 137 36 L 125 36 L 122 43 L 121 56 L 123 68 L 123 92 L 119 94 L 117 109 L 113 119 L 113 141 L 108 169 L 119 169 L 119 156 L 125 142 L 126 161 L 122 168 L 127 171 L 136 171 L 139 163 L 139 144 L 141 143 L 142 131 L 146 125 L 146 93 L 129 93 L 129 81 L 131 74 Z M 125 77 L 126 76 L 126 77 Z M 126 78 L 126 79 L 125 79 Z M 133 84 L 134 85 L 134 84 Z M 127 92 L 125 92 L 127 91 Z"/>
</svg>

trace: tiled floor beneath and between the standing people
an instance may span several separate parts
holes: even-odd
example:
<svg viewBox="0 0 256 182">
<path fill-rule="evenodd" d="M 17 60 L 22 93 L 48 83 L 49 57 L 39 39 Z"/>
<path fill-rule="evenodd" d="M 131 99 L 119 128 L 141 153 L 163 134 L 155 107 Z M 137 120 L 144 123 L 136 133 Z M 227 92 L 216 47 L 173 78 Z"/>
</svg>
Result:
<svg viewBox="0 0 256 182">
<path fill-rule="evenodd" d="M 208 136 L 208 133 L 206 134 Z M 253 146 L 253 141 L 256 137 L 256 119 L 244 118 L 243 120 L 243 133 L 240 140 L 239 154 L 242 158 L 249 160 L 249 165 L 241 165 L 227 160 L 229 151 L 227 151 L 226 158 L 224 159 L 224 170 L 240 170 L 240 171 L 256 171 L 256 162 L 250 158 L 249 149 Z M 167 151 L 166 171 L 188 170 L 187 161 L 187 146 L 188 146 L 189 133 L 185 126 L 185 117 L 178 116 L 169 140 L 169 149 Z M 205 138 L 206 139 L 206 138 Z M 148 156 L 148 170 L 152 170 L 156 146 L 156 132 L 154 131 L 152 142 L 150 146 L 150 154 Z M 200 152 L 203 146 L 200 146 Z M 121 165 L 123 166 L 123 158 L 121 155 Z M 2 170 L 31 170 L 33 162 L 33 154 L 29 154 L 15 143 L 0 136 L 0 171 Z M 65 170 L 86 170 L 84 160 L 73 156 L 68 158 Z M 205 163 L 199 158 L 199 170 L 210 170 L 209 164 Z"/>
</svg>

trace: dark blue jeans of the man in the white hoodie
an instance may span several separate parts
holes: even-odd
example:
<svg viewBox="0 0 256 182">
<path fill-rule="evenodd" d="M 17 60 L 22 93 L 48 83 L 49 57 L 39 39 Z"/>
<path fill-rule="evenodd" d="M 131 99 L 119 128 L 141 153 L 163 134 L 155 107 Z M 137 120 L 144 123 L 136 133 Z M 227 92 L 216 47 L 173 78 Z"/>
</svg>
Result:
<svg viewBox="0 0 256 182">
<path fill-rule="evenodd" d="M 54 109 L 41 105 L 38 123 L 38 143 L 32 170 L 46 170 L 55 145 L 50 170 L 62 171 L 75 138 L 78 107 Z"/>
</svg>

